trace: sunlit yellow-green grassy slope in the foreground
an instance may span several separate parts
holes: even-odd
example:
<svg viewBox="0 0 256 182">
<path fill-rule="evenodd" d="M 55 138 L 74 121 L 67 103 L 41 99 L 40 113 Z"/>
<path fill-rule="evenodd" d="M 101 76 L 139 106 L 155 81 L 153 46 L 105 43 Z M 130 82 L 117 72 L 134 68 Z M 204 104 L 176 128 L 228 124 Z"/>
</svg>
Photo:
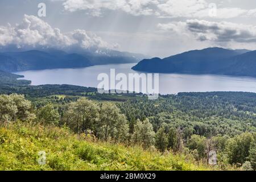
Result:
<svg viewBox="0 0 256 182">
<path fill-rule="evenodd" d="M 40 165 L 39 152 L 46 152 Z M 15 123 L 0 127 L 0 170 L 209 170 L 182 155 L 160 154 L 72 134 L 67 128 Z"/>
</svg>

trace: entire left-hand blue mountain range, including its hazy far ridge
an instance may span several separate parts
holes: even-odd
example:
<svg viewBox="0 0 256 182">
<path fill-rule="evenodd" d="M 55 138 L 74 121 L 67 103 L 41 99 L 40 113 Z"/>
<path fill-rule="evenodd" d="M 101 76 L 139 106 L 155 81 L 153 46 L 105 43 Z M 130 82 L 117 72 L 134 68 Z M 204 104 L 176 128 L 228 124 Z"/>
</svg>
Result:
<svg viewBox="0 0 256 182">
<path fill-rule="evenodd" d="M 76 51 L 67 53 L 57 49 L 0 52 L 0 70 L 5 72 L 82 68 L 96 64 L 137 63 L 142 55 L 113 50 Z"/>
</svg>

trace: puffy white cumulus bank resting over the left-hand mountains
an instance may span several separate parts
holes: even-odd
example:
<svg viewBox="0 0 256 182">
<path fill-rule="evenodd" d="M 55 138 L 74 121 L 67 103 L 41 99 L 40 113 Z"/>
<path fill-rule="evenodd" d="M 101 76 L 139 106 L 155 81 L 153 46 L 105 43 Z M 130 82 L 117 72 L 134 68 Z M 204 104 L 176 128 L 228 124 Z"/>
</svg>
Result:
<svg viewBox="0 0 256 182">
<path fill-rule="evenodd" d="M 74 30 L 67 34 L 59 28 L 33 15 L 24 15 L 21 23 L 15 26 L 0 26 L 0 46 L 53 47 L 53 48 L 114 48 L 96 34 L 85 30 Z"/>
</svg>

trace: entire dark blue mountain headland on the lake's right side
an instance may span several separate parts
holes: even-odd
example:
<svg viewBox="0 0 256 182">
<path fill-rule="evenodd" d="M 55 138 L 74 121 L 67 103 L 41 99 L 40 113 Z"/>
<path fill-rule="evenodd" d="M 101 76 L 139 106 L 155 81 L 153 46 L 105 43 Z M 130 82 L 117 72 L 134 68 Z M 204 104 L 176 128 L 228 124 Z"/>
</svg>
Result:
<svg viewBox="0 0 256 182">
<path fill-rule="evenodd" d="M 144 59 L 132 69 L 155 73 L 197 73 L 256 76 L 256 52 L 206 48 L 160 59 Z"/>
</svg>

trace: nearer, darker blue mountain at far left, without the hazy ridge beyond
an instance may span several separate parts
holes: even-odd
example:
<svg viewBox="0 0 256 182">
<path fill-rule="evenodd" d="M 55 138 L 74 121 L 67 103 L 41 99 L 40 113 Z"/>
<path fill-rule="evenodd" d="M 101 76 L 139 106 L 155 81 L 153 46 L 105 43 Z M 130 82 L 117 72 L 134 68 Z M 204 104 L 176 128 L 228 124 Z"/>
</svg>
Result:
<svg viewBox="0 0 256 182">
<path fill-rule="evenodd" d="M 0 53 L 0 69 L 6 72 L 26 71 L 31 69 L 89 67 L 92 63 L 86 57 L 65 52 L 5 52 Z"/>
</svg>

